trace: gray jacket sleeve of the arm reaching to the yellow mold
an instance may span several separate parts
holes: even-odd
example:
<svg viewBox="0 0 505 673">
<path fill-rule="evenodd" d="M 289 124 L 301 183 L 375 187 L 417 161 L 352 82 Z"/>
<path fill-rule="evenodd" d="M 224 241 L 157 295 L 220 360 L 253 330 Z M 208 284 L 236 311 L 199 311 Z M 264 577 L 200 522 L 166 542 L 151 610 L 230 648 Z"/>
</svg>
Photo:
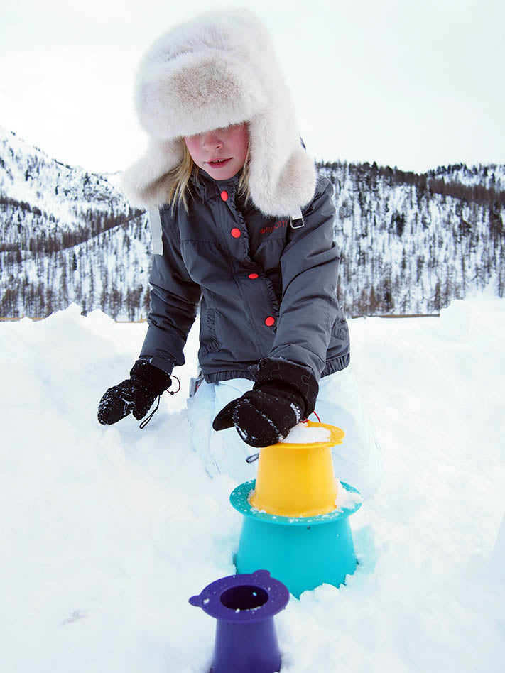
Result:
<svg viewBox="0 0 505 673">
<path fill-rule="evenodd" d="M 305 224 L 291 229 L 281 256 L 283 294 L 270 358 L 286 359 L 310 368 L 317 380 L 325 368 L 332 325 L 340 307 L 332 184 L 321 180 L 305 208 Z"/>
</svg>

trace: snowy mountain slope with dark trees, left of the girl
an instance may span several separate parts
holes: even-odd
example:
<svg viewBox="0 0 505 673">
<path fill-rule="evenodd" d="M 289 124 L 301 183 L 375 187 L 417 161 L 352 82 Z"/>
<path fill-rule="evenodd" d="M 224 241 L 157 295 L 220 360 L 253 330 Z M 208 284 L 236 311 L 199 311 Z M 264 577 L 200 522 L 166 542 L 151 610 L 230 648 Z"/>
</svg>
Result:
<svg viewBox="0 0 505 673">
<path fill-rule="evenodd" d="M 0 316 L 44 317 L 72 301 L 84 312 L 146 315 L 147 216 L 115 182 L 0 129 Z"/>
</svg>

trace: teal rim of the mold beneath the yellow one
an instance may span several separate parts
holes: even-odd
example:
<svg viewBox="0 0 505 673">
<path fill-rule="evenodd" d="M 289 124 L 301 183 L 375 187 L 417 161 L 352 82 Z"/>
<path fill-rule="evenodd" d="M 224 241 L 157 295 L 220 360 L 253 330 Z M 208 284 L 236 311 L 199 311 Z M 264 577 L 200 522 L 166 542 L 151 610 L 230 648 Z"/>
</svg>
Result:
<svg viewBox="0 0 505 673">
<path fill-rule="evenodd" d="M 346 491 L 351 493 L 358 493 L 359 491 L 354 486 L 349 486 L 348 483 L 340 482 Z M 251 491 L 254 491 L 256 486 L 256 479 L 251 481 L 244 481 L 237 488 L 234 488 L 229 496 L 229 501 L 232 507 L 241 515 L 249 516 L 257 521 L 264 521 L 266 523 L 274 523 L 281 526 L 315 526 L 322 523 L 329 523 L 330 521 L 337 521 L 338 519 L 346 519 L 350 515 L 357 512 L 362 506 L 362 503 L 356 503 L 351 507 L 335 509 L 327 514 L 316 514 L 313 516 L 279 516 L 276 514 L 268 514 L 261 510 L 257 510 L 249 503 L 249 496 Z"/>
</svg>

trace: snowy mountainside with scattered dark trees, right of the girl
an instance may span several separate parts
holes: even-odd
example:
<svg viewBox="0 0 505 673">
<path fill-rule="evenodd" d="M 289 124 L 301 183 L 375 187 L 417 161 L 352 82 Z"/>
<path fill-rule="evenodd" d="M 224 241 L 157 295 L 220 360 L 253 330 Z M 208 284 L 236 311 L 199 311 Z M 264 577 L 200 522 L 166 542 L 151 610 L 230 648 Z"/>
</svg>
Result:
<svg viewBox="0 0 505 673">
<path fill-rule="evenodd" d="M 418 175 L 333 163 L 339 296 L 347 313 L 433 313 L 494 283 L 505 292 L 505 165 Z"/>
</svg>

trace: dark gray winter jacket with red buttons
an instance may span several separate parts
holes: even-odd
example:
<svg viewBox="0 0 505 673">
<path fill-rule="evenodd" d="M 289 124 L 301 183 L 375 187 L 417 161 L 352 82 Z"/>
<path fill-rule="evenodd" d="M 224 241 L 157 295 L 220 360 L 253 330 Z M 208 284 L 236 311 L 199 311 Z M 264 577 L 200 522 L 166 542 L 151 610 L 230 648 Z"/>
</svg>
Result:
<svg viewBox="0 0 505 673">
<path fill-rule="evenodd" d="M 305 366 L 316 379 L 343 369 L 349 332 L 336 296 L 330 181 L 317 182 L 303 226 L 244 204 L 237 187 L 237 175 L 217 182 L 200 170 L 188 213 L 159 210 L 163 253 L 155 226 L 161 254 L 153 256 L 141 358 L 168 373 L 182 365 L 200 302 L 198 359 L 207 382 L 254 378 L 266 357 Z"/>
</svg>

